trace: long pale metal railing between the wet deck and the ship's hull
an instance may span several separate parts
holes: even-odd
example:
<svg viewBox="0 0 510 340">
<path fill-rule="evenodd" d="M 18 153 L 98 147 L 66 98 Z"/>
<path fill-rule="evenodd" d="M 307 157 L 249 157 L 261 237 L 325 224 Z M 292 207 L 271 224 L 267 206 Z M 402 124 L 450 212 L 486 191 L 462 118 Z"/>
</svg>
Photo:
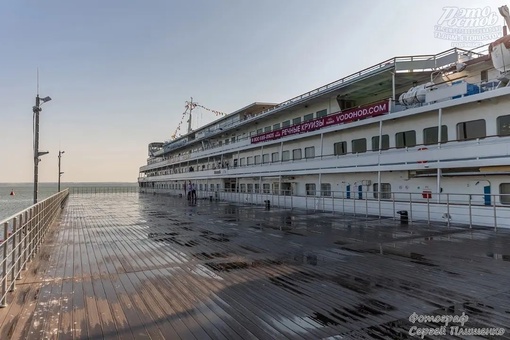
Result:
<svg viewBox="0 0 510 340">
<path fill-rule="evenodd" d="M 299 195 L 292 190 L 272 190 L 270 186 L 251 192 L 234 189 L 199 190 L 197 197 L 212 201 L 261 205 L 270 209 L 304 209 L 360 218 L 389 218 L 406 224 L 434 223 L 447 227 L 492 227 L 494 230 L 510 228 L 510 193 L 437 193 L 435 189 L 428 188 L 421 192 L 410 191 L 411 189 L 374 192 L 367 190 L 367 185 L 363 185 L 363 190 L 358 190 L 357 184 L 352 187 L 356 190 L 309 190 L 309 195 Z M 490 185 L 473 184 L 473 187 L 483 191 Z M 181 196 L 183 194 L 182 189 L 143 189 L 146 193 L 170 193 Z M 405 185 L 401 189 L 406 189 Z"/>
</svg>

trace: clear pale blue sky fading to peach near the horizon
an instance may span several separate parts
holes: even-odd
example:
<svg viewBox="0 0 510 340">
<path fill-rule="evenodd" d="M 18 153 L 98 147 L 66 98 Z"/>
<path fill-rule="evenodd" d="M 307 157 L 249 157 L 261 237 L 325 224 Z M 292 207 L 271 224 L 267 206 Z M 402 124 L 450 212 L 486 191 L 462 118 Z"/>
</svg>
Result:
<svg viewBox="0 0 510 340">
<path fill-rule="evenodd" d="M 39 181 L 57 181 L 63 150 L 64 182 L 136 182 L 147 145 L 171 138 L 190 97 L 226 113 L 283 102 L 395 56 L 451 48 L 435 36 L 436 25 L 458 22 L 440 23 L 447 13 L 488 7 L 483 13 L 501 26 L 501 5 L 0 1 L 0 183 L 33 181 L 37 70 L 40 96 L 52 98 L 40 113 L 39 150 L 49 154 L 41 157 Z M 194 113 L 194 128 L 218 118 Z"/>
</svg>

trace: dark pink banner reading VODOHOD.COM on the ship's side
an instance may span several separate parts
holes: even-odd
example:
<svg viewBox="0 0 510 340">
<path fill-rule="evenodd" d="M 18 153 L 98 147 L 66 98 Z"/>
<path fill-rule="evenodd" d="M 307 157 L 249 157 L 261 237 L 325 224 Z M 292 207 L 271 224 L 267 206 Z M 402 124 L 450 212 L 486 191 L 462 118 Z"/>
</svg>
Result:
<svg viewBox="0 0 510 340">
<path fill-rule="evenodd" d="M 262 133 L 260 135 L 251 137 L 251 143 L 260 143 L 269 140 L 275 140 L 278 138 L 295 135 L 298 133 L 305 133 L 314 130 L 322 129 L 326 126 L 349 123 L 355 120 L 365 119 L 369 117 L 381 116 L 389 112 L 388 101 L 379 102 L 364 107 L 357 107 L 342 112 L 337 112 L 332 115 L 321 117 L 299 125 Z"/>
</svg>

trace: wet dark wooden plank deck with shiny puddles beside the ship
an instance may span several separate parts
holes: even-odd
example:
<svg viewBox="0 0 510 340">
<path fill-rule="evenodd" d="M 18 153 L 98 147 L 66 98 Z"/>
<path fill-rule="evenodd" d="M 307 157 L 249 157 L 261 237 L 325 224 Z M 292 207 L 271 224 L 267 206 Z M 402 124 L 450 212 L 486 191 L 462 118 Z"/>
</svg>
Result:
<svg viewBox="0 0 510 340">
<path fill-rule="evenodd" d="M 0 339 L 395 339 L 443 325 L 412 324 L 414 312 L 506 328 L 509 241 L 508 231 L 73 195 L 0 309 Z"/>
</svg>

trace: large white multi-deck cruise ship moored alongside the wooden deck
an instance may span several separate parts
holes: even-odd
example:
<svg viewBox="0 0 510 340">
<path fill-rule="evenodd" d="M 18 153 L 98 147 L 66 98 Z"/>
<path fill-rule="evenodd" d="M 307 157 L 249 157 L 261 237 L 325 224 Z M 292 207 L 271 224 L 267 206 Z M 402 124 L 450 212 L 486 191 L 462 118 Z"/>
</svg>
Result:
<svg viewBox="0 0 510 340">
<path fill-rule="evenodd" d="M 394 57 L 148 146 L 145 193 L 510 227 L 510 36 Z M 192 117 L 196 103 L 187 102 Z"/>
</svg>

